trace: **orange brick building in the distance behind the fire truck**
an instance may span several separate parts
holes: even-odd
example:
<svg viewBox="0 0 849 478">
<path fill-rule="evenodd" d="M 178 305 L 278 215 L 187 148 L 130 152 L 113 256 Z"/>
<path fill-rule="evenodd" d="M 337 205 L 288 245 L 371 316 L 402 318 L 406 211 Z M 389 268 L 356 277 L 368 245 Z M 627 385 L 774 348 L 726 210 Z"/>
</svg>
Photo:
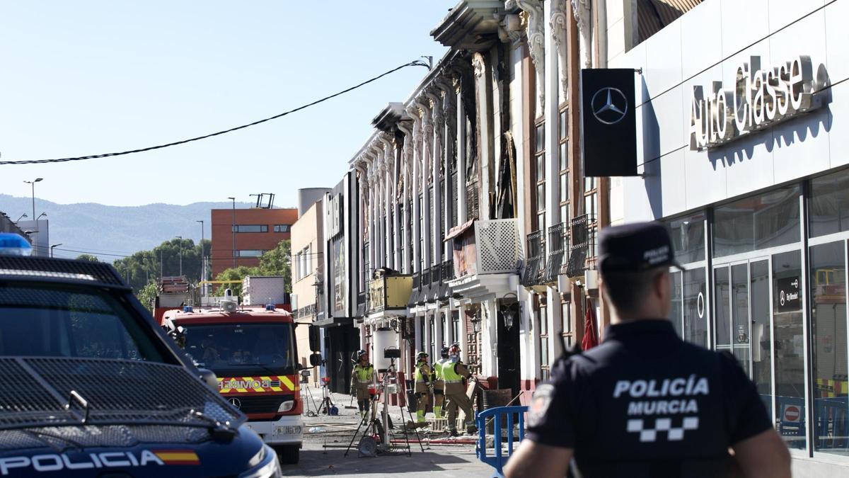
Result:
<svg viewBox="0 0 849 478">
<path fill-rule="evenodd" d="M 295 208 L 212 209 L 212 276 L 234 265 L 259 265 L 262 253 L 290 238 L 297 219 Z"/>
</svg>

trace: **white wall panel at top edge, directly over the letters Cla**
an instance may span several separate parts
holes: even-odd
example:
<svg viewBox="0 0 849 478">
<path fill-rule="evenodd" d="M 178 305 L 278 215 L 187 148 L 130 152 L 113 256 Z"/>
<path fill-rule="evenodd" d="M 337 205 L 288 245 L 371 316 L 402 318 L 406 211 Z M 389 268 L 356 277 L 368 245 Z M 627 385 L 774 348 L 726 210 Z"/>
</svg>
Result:
<svg viewBox="0 0 849 478">
<path fill-rule="evenodd" d="M 768 0 L 722 0 L 722 58 L 769 35 Z"/>
</svg>

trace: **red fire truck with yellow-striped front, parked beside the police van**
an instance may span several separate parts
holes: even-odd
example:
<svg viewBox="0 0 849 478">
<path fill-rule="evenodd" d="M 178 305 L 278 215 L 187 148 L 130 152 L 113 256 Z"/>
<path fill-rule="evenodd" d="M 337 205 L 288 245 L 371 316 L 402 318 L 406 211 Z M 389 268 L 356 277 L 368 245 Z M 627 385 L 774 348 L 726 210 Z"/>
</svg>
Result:
<svg viewBox="0 0 849 478">
<path fill-rule="evenodd" d="M 199 366 L 216 373 L 218 391 L 248 417 L 248 426 L 294 464 L 303 441 L 295 323 L 273 304 L 169 310 L 163 327 Z"/>
</svg>

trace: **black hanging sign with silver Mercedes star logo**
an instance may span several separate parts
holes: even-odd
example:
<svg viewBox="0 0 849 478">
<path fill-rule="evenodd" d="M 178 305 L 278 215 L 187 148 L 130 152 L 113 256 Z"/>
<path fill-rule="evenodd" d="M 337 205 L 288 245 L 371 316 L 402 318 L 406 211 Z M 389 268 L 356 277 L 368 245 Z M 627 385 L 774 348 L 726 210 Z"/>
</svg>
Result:
<svg viewBox="0 0 849 478">
<path fill-rule="evenodd" d="M 586 176 L 636 176 L 634 71 L 581 71 L 583 161 Z"/>
</svg>

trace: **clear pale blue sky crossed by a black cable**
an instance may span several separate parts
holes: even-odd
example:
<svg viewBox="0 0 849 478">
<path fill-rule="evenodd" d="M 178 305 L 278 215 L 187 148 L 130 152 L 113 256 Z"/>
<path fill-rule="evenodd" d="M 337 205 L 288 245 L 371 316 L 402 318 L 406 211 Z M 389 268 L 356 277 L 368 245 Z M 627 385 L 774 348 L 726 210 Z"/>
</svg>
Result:
<svg viewBox="0 0 849 478">
<path fill-rule="evenodd" d="M 123 151 L 207 134 L 335 93 L 419 55 L 453 0 L 0 3 L 3 160 Z M 411 67 L 335 100 L 201 142 L 0 166 L 0 192 L 53 202 L 188 204 L 333 186 Z"/>
</svg>

